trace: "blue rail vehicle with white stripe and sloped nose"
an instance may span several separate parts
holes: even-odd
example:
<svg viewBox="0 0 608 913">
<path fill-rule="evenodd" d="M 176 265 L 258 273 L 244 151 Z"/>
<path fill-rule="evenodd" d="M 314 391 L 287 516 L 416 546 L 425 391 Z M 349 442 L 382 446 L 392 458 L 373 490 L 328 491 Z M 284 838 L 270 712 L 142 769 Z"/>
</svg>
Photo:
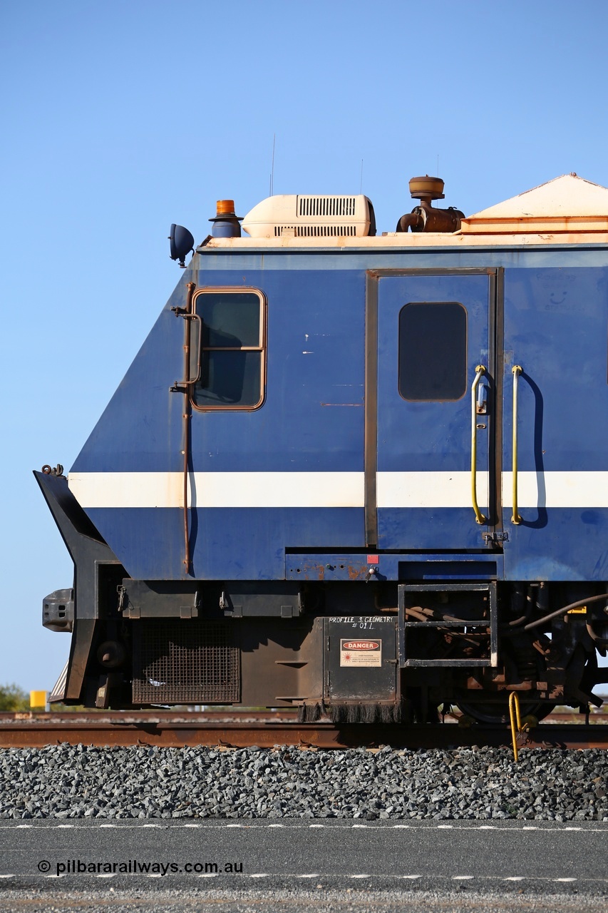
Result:
<svg viewBox="0 0 608 913">
<path fill-rule="evenodd" d="M 72 633 L 53 699 L 601 704 L 608 189 L 467 218 L 410 192 L 382 235 L 363 195 L 172 226 L 176 289 L 68 477 L 36 473 L 75 564 L 43 603 Z"/>
</svg>

